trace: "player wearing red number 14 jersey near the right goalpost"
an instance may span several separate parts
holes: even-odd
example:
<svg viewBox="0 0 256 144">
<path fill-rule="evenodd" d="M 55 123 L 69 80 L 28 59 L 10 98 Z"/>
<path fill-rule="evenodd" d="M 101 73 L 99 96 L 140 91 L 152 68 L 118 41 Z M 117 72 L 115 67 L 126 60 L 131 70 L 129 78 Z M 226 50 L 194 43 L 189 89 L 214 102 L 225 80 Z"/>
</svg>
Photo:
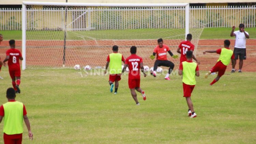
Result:
<svg viewBox="0 0 256 144">
<path fill-rule="evenodd" d="M 186 37 L 187 41 L 183 41 L 180 43 L 179 47 L 177 48 L 177 53 L 181 54 L 180 63 L 185 62 L 187 60 L 186 53 L 187 51 L 194 51 L 195 46 L 191 43 L 192 34 L 187 34 Z M 195 55 L 193 54 L 193 59 L 200 64 L 200 62 L 196 59 Z"/>
</svg>

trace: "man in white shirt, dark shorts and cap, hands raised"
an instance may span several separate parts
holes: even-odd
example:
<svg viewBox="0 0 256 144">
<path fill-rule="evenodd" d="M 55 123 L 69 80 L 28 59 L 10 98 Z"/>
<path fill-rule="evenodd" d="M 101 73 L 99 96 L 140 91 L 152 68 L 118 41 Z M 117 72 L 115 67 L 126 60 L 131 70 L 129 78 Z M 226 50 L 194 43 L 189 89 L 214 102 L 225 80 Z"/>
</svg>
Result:
<svg viewBox="0 0 256 144">
<path fill-rule="evenodd" d="M 232 60 L 232 70 L 231 73 L 234 73 L 236 71 L 235 66 L 237 64 L 237 59 L 239 56 L 239 73 L 242 73 L 242 66 L 243 66 L 243 60 L 246 60 L 246 38 L 249 38 L 249 33 L 244 31 L 244 24 L 241 23 L 239 25 L 239 31 L 234 31 L 236 27 L 232 27 L 232 31 L 230 33 L 230 36 L 236 36 L 235 46 L 234 46 L 234 57 L 235 59 Z"/>
</svg>

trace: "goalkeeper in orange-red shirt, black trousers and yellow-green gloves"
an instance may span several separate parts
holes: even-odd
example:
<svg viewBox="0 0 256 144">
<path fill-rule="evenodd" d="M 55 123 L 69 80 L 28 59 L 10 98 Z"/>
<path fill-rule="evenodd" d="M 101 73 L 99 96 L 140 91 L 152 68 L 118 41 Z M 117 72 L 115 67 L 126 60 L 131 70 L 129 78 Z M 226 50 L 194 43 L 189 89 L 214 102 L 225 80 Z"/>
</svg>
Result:
<svg viewBox="0 0 256 144">
<path fill-rule="evenodd" d="M 163 39 L 159 38 L 157 39 L 158 46 L 155 47 L 153 51 L 153 55 L 150 56 L 152 60 L 155 59 L 156 55 L 156 61 L 154 64 L 154 70 L 151 71 L 151 75 L 156 77 L 156 69 L 158 66 L 166 66 L 169 67 L 169 71 L 165 76 L 166 80 L 170 80 L 169 76 L 174 68 L 174 63 L 167 60 L 166 52 L 168 52 L 174 59 L 178 58 L 178 55 L 173 55 L 173 53 L 170 51 L 170 48 L 163 44 Z"/>
</svg>

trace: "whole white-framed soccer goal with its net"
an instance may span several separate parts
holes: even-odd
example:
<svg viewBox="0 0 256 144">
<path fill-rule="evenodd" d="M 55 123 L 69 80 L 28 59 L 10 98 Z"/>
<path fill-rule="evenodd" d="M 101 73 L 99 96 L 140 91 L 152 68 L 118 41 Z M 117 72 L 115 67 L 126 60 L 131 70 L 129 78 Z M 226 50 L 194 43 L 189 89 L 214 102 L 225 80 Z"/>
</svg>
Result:
<svg viewBox="0 0 256 144">
<path fill-rule="evenodd" d="M 104 67 L 113 45 L 125 58 L 129 48 L 137 46 L 144 65 L 151 67 L 154 61 L 149 56 L 158 38 L 176 53 L 191 33 L 196 52 L 203 30 L 203 24 L 189 16 L 188 3 L 23 2 L 22 6 L 23 70 L 75 64 Z M 179 60 L 171 61 L 179 65 Z"/>
</svg>

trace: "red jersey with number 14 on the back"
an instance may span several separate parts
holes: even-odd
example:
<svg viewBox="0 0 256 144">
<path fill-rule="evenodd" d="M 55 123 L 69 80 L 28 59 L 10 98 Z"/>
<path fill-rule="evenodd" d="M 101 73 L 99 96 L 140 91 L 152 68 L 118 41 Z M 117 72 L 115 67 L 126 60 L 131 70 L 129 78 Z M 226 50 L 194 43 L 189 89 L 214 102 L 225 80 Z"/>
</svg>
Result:
<svg viewBox="0 0 256 144">
<path fill-rule="evenodd" d="M 181 49 L 181 59 L 180 62 L 185 62 L 187 60 L 186 53 L 188 50 L 194 51 L 195 46 L 189 41 L 183 41 L 180 43 L 179 48 Z"/>
</svg>

